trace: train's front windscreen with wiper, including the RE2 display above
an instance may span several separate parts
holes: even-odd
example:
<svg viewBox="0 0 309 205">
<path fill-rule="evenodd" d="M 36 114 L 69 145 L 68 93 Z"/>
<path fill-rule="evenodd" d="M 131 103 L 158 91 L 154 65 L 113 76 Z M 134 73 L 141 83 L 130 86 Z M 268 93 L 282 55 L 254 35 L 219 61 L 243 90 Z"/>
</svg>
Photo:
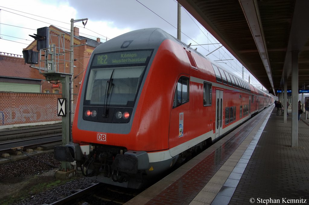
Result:
<svg viewBox="0 0 309 205">
<path fill-rule="evenodd" d="M 99 53 L 91 62 L 84 105 L 133 107 L 152 50 Z"/>
</svg>

